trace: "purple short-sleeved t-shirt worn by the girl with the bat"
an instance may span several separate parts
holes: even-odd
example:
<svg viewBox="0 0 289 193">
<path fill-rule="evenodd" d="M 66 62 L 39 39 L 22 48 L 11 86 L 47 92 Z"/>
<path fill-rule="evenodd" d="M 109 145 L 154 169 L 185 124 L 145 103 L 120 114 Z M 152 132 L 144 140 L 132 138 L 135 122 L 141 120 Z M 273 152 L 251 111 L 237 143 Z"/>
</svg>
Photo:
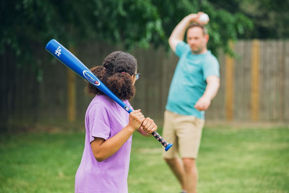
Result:
<svg viewBox="0 0 289 193">
<path fill-rule="evenodd" d="M 129 102 L 125 104 L 132 109 Z M 91 149 L 94 137 L 105 140 L 128 124 L 129 113 L 107 95 L 96 95 L 85 115 L 85 146 L 75 176 L 75 193 L 127 193 L 127 175 L 132 136 L 109 158 L 98 162 Z"/>
</svg>

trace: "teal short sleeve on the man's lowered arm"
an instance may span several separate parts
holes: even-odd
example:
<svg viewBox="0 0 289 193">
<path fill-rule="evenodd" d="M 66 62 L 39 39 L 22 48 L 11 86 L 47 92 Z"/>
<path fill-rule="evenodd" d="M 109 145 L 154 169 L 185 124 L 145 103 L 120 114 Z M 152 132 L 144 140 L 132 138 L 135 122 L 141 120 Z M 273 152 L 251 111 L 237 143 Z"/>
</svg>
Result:
<svg viewBox="0 0 289 193">
<path fill-rule="evenodd" d="M 208 76 L 220 77 L 220 66 L 218 60 L 214 57 L 207 59 L 202 66 L 203 80 L 205 81 Z"/>
</svg>

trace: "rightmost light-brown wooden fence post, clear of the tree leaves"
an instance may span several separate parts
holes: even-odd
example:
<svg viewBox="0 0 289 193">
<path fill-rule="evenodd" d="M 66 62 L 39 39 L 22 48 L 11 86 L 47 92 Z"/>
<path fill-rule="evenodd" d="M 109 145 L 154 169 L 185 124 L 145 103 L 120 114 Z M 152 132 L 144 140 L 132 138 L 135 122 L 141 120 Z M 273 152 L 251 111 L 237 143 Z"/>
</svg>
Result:
<svg viewBox="0 0 289 193">
<path fill-rule="evenodd" d="M 251 120 L 259 118 L 259 77 L 260 77 L 260 41 L 253 40 L 251 44 Z"/>
</svg>

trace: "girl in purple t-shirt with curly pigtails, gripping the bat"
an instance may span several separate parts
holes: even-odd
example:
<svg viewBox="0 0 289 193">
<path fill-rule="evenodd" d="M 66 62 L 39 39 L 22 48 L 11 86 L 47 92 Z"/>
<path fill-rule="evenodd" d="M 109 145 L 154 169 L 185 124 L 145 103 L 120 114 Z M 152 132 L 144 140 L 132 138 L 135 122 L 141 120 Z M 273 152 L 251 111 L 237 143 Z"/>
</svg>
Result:
<svg viewBox="0 0 289 193">
<path fill-rule="evenodd" d="M 102 66 L 90 70 L 132 109 L 128 101 L 135 95 L 134 83 L 140 76 L 133 56 L 113 52 Z M 149 137 L 157 126 L 140 109 L 128 114 L 90 83 L 86 93 L 95 97 L 85 115 L 85 146 L 75 176 L 75 193 L 127 193 L 132 134 L 138 131 Z"/>
</svg>

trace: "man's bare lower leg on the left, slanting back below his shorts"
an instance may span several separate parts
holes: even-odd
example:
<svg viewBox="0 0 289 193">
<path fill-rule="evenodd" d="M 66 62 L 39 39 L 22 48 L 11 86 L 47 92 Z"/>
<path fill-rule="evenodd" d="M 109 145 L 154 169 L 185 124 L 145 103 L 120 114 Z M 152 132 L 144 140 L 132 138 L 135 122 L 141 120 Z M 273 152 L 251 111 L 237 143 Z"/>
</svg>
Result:
<svg viewBox="0 0 289 193">
<path fill-rule="evenodd" d="M 185 168 L 183 161 L 179 157 L 173 159 L 165 158 L 165 161 L 168 164 L 168 166 L 170 166 L 171 170 L 175 174 L 175 177 L 177 177 L 179 183 L 181 184 L 182 189 L 186 190 L 186 184 L 184 183 L 186 180 L 184 179 Z"/>
</svg>

